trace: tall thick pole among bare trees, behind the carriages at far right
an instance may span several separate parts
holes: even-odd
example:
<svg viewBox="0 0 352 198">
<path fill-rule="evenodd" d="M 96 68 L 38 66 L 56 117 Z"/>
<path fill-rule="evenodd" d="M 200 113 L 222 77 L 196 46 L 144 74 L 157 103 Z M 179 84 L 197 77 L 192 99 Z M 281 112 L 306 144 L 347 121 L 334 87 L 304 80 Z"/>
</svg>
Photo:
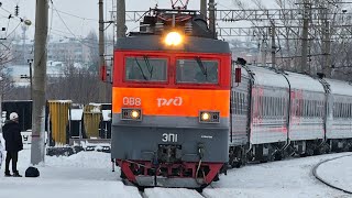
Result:
<svg viewBox="0 0 352 198">
<path fill-rule="evenodd" d="M 309 25 L 309 13 L 310 13 L 309 0 L 304 1 L 304 28 L 301 32 L 301 59 L 300 59 L 300 72 L 308 73 L 307 61 L 308 61 L 308 25 Z"/>
</svg>

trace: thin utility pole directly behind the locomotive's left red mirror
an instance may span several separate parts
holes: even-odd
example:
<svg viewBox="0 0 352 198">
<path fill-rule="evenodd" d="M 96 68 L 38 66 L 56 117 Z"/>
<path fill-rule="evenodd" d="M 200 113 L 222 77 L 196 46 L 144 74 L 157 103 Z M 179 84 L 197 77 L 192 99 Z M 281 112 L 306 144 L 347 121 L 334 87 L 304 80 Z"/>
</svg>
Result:
<svg viewBox="0 0 352 198">
<path fill-rule="evenodd" d="M 99 0 L 99 69 L 100 70 L 102 67 L 107 67 L 106 61 L 105 61 L 105 37 L 103 37 L 103 0 Z M 106 72 L 107 69 L 102 69 L 102 72 Z M 101 74 L 101 75 L 107 75 L 107 74 Z M 99 98 L 101 101 L 105 101 L 107 98 L 107 87 L 103 81 L 100 82 L 100 94 Z"/>
</svg>

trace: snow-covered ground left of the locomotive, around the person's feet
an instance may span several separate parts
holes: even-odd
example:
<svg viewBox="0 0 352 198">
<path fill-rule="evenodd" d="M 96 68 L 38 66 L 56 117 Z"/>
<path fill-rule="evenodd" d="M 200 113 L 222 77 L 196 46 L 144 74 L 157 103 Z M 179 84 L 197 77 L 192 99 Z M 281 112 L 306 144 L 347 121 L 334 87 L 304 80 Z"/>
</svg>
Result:
<svg viewBox="0 0 352 198">
<path fill-rule="evenodd" d="M 24 176 L 30 165 L 30 150 L 19 154 L 19 170 Z M 119 172 L 111 172 L 110 154 L 80 152 L 69 157 L 46 156 L 38 167 L 38 178 L 3 177 L 0 173 L 0 198 L 110 198 L 141 197 L 135 187 L 124 186 Z"/>
</svg>

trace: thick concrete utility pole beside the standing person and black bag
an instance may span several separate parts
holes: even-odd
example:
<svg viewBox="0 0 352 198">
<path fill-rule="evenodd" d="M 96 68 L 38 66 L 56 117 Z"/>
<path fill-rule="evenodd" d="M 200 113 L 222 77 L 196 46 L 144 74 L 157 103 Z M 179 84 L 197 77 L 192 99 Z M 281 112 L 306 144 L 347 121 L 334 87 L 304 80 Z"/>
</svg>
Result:
<svg viewBox="0 0 352 198">
<path fill-rule="evenodd" d="M 31 164 L 44 162 L 46 40 L 48 0 L 36 0 Z"/>
</svg>

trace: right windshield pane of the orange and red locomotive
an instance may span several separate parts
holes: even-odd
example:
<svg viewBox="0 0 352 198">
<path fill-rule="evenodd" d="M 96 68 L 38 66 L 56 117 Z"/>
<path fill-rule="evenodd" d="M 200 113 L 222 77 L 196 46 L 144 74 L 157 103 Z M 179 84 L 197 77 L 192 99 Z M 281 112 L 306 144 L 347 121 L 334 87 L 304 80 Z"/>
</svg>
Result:
<svg viewBox="0 0 352 198">
<path fill-rule="evenodd" d="M 217 61 L 177 59 L 177 82 L 218 84 L 219 63 Z"/>
</svg>

